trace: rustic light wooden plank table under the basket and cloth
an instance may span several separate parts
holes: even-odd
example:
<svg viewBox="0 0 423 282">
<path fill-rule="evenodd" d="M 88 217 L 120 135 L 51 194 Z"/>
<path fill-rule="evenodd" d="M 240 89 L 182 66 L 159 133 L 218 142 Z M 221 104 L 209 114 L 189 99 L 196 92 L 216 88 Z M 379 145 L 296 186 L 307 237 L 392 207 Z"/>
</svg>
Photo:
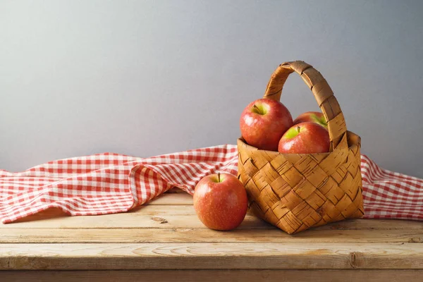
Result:
<svg viewBox="0 0 423 282">
<path fill-rule="evenodd" d="M 192 197 L 125 214 L 0 224 L 0 281 L 423 281 L 423 223 L 350 220 L 287 235 L 247 215 L 205 228 Z"/>
</svg>

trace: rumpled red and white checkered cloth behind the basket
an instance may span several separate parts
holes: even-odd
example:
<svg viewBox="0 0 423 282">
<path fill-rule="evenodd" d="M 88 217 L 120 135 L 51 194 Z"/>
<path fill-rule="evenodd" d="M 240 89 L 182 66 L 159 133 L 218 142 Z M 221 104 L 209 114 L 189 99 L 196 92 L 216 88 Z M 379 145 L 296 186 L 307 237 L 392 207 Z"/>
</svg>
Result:
<svg viewBox="0 0 423 282">
<path fill-rule="evenodd" d="M 20 173 L 0 170 L 0 218 L 11 223 L 57 207 L 73 215 L 114 214 L 178 187 L 191 195 L 210 173 L 236 175 L 236 145 L 157 157 L 95 154 L 50 161 Z M 364 218 L 423 220 L 423 180 L 379 168 L 362 155 Z"/>
</svg>

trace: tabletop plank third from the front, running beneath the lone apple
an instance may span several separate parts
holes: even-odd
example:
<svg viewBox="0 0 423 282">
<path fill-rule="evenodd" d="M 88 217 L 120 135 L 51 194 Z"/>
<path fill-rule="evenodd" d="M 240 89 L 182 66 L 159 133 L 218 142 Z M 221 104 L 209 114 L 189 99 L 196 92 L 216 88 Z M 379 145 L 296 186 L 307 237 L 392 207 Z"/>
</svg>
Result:
<svg viewBox="0 0 423 282">
<path fill-rule="evenodd" d="M 130 212 L 100 216 L 68 216 L 60 209 L 27 216 L 11 224 L 0 224 L 0 233 L 6 228 L 206 228 L 197 218 L 192 205 L 147 205 Z M 240 228 L 273 229 L 255 216 L 247 214 Z M 317 230 L 420 230 L 422 221 L 394 219 L 350 219 L 321 226 Z"/>
</svg>

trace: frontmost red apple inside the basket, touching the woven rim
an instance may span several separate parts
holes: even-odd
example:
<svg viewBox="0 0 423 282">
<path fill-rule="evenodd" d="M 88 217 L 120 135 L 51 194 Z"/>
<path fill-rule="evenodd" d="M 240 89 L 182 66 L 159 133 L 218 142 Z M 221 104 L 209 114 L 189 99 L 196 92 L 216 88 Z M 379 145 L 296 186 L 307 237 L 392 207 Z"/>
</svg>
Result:
<svg viewBox="0 0 423 282">
<path fill-rule="evenodd" d="M 298 123 L 281 137 L 278 152 L 283 154 L 324 153 L 329 152 L 330 144 L 328 130 L 323 126 L 310 122 Z"/>
</svg>

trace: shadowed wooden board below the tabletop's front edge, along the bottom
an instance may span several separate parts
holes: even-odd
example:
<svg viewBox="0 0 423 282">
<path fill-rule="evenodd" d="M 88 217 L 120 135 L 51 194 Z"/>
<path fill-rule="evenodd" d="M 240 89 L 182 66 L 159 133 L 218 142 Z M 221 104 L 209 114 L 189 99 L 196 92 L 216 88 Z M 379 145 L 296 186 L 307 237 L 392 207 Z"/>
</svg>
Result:
<svg viewBox="0 0 423 282">
<path fill-rule="evenodd" d="M 275 281 L 275 282 L 327 282 L 327 281 L 374 281 L 374 282 L 420 282 L 423 270 L 111 270 L 111 271 L 2 271 L 3 281 L 46 282 L 133 282 L 133 281 Z"/>
</svg>

